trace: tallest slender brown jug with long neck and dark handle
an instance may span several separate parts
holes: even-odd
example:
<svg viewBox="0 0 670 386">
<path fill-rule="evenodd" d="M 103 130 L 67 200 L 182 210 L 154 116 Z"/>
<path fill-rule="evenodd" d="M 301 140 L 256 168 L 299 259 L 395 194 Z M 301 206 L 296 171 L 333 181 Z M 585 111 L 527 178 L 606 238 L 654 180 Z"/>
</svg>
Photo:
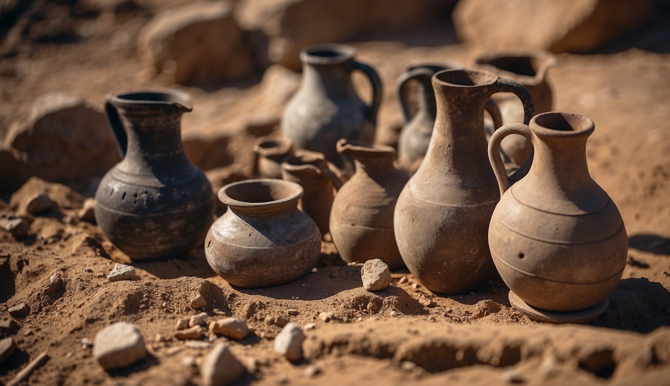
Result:
<svg viewBox="0 0 670 386">
<path fill-rule="evenodd" d="M 498 202 L 486 157 L 484 103 L 494 92 L 514 92 L 533 116 L 528 90 L 480 70 L 433 76 L 438 115 L 428 151 L 400 194 L 393 227 L 407 268 L 425 287 L 467 293 L 488 279 L 488 222 Z"/>
</svg>

